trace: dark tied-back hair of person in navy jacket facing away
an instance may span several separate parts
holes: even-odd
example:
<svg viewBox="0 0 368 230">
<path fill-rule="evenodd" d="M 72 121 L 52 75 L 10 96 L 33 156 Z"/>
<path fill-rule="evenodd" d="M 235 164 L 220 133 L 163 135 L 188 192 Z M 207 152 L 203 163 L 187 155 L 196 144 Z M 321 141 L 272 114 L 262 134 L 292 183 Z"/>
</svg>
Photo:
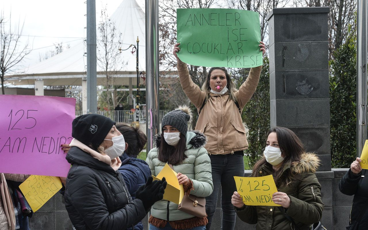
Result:
<svg viewBox="0 0 368 230">
<path fill-rule="evenodd" d="M 124 140 L 128 144 L 125 153 L 130 157 L 137 158 L 146 145 L 147 136 L 137 127 L 131 127 L 123 123 L 116 124 L 115 126 L 123 134 Z"/>
</svg>

